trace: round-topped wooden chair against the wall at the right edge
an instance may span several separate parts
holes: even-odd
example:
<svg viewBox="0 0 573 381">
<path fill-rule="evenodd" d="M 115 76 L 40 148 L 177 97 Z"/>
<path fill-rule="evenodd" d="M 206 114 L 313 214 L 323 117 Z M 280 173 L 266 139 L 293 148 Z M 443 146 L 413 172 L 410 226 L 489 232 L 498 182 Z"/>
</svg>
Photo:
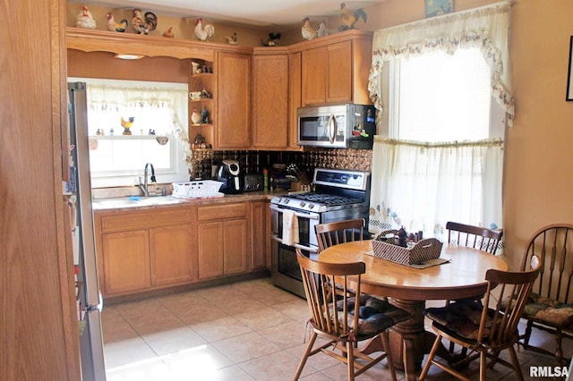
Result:
<svg viewBox="0 0 573 381">
<path fill-rule="evenodd" d="M 541 259 L 542 268 L 523 312 L 527 326 L 521 343 L 526 350 L 569 363 L 561 342 L 563 337 L 573 338 L 573 224 L 549 224 L 535 232 L 527 242 L 521 268 L 529 267 L 534 256 Z M 529 343 L 534 327 L 555 335 L 555 351 Z"/>
</svg>

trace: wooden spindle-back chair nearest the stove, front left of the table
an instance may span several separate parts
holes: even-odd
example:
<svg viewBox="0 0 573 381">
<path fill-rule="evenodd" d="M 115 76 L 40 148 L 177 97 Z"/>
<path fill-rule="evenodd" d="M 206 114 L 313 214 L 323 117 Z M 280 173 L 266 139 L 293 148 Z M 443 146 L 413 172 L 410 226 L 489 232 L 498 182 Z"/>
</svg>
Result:
<svg viewBox="0 0 573 381">
<path fill-rule="evenodd" d="M 392 379 L 396 381 L 396 372 L 390 360 L 388 328 L 412 316 L 388 301 L 361 292 L 361 275 L 366 271 L 363 262 L 316 261 L 305 257 L 298 248 L 296 256 L 311 314 L 308 324 L 312 327 L 312 335 L 294 379 L 301 376 L 309 357 L 324 353 L 346 363 L 348 380 L 354 380 L 388 357 L 388 368 Z M 335 283 L 341 292 L 329 292 L 329 284 Z M 357 349 L 357 343 L 377 335 L 381 336 L 384 351 L 375 352 L 375 357 L 371 357 Z M 314 348 L 318 337 L 325 339 L 326 343 L 321 342 Z"/>
</svg>

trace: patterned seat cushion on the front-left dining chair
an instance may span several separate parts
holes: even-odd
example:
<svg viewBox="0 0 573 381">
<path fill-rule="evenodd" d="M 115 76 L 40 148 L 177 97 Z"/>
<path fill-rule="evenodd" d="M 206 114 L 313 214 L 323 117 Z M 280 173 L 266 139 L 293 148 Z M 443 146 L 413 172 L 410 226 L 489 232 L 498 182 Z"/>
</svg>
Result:
<svg viewBox="0 0 573 381">
<path fill-rule="evenodd" d="M 348 298 L 346 301 L 346 308 L 351 311 L 348 316 L 348 323 L 351 328 L 354 328 L 352 317 L 354 317 L 355 301 L 355 297 Z M 338 301 L 338 311 L 342 311 L 343 308 L 344 301 Z M 388 301 L 381 301 L 371 295 L 362 294 L 360 298 L 359 317 L 358 327 L 355 329 L 356 334 L 359 336 L 370 336 L 372 334 L 379 334 L 390 326 L 412 318 L 412 315 L 404 309 L 394 307 Z M 338 315 L 338 321 L 340 323 L 344 321 L 342 314 Z"/>
</svg>

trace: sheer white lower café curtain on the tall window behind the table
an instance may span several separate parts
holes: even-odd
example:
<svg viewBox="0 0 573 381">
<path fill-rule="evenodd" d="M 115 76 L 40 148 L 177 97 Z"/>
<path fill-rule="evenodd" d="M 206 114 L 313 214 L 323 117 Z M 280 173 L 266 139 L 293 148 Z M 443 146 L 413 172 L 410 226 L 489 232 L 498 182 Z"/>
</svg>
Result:
<svg viewBox="0 0 573 381">
<path fill-rule="evenodd" d="M 433 144 L 376 136 L 369 230 L 405 226 L 440 237 L 450 220 L 501 227 L 502 163 L 499 139 Z"/>
</svg>

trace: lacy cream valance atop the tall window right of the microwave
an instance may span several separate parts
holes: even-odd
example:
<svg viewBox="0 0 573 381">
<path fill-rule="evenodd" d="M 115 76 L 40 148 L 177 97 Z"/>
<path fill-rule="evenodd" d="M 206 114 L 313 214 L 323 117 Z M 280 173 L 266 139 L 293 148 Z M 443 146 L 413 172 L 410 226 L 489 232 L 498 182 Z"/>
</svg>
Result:
<svg viewBox="0 0 573 381">
<path fill-rule="evenodd" d="M 510 7 L 511 2 L 504 1 L 377 30 L 372 41 L 372 68 L 368 83 L 374 106 L 383 111 L 381 72 L 385 61 L 435 50 L 453 54 L 458 48 L 479 47 L 483 58 L 492 67 L 492 94 L 511 126 L 515 110 L 509 59 Z"/>
</svg>

